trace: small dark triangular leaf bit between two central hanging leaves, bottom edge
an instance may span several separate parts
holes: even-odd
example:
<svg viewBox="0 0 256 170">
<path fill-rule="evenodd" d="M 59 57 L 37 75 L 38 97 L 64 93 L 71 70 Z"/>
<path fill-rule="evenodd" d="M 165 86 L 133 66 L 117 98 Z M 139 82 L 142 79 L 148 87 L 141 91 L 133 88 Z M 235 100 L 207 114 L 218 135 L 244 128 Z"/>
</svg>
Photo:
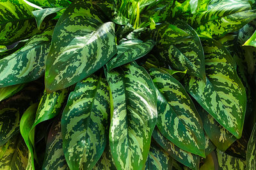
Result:
<svg viewBox="0 0 256 170">
<path fill-rule="evenodd" d="M 116 170 L 113 158 L 111 156 L 109 145 L 106 146 L 100 160 L 97 162 L 93 170 Z"/>
</svg>

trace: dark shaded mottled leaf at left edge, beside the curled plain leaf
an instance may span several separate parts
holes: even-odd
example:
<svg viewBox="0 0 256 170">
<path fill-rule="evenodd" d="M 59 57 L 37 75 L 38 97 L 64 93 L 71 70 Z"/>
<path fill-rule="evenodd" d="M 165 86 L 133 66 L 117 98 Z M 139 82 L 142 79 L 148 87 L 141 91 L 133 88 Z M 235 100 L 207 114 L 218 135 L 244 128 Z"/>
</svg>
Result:
<svg viewBox="0 0 256 170">
<path fill-rule="evenodd" d="M 0 146 L 19 132 L 20 113 L 17 108 L 0 110 Z"/>
</svg>

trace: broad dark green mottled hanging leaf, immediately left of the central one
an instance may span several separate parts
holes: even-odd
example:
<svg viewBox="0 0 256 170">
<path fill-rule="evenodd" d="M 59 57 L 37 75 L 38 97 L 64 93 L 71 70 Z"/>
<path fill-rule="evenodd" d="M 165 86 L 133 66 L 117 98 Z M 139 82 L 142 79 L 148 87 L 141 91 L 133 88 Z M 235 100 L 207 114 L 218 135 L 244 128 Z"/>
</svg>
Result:
<svg viewBox="0 0 256 170">
<path fill-rule="evenodd" d="M 92 169 L 108 139 L 109 87 L 92 74 L 77 83 L 62 113 L 63 151 L 70 169 Z"/>
</svg>

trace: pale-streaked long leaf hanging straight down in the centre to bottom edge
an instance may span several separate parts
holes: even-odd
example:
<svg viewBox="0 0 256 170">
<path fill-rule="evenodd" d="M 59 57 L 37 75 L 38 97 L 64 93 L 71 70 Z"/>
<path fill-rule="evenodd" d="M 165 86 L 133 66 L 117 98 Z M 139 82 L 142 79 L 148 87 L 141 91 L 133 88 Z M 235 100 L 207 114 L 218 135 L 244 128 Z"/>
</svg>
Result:
<svg viewBox="0 0 256 170">
<path fill-rule="evenodd" d="M 113 96 L 109 145 L 116 169 L 142 169 L 156 125 L 154 83 L 132 62 L 108 73 Z"/>
</svg>

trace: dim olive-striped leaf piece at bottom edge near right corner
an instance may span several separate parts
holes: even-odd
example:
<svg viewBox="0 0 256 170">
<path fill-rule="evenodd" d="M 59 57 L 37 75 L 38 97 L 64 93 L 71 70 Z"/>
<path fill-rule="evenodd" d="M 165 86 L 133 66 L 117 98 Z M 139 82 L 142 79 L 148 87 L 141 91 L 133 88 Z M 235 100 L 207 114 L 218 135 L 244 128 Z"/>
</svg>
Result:
<svg viewBox="0 0 256 170">
<path fill-rule="evenodd" d="M 217 158 L 218 158 L 218 164 L 220 166 L 219 169 L 221 170 L 245 170 L 246 165 L 243 162 L 243 160 L 232 157 L 228 155 L 225 152 L 222 152 L 221 150 L 216 150 L 217 152 Z"/>
</svg>

